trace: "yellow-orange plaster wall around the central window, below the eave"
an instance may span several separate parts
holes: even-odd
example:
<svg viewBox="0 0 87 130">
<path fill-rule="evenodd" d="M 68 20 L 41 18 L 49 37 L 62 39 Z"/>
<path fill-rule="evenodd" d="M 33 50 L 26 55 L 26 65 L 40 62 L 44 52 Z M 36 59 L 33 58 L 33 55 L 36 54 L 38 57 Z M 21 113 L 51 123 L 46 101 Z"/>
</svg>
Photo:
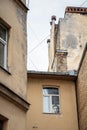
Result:
<svg viewBox="0 0 87 130">
<path fill-rule="evenodd" d="M 60 114 L 43 113 L 44 85 L 58 86 Z M 75 84 L 73 81 L 28 78 L 27 130 L 78 130 Z M 34 128 L 36 127 L 36 128 Z"/>
</svg>

